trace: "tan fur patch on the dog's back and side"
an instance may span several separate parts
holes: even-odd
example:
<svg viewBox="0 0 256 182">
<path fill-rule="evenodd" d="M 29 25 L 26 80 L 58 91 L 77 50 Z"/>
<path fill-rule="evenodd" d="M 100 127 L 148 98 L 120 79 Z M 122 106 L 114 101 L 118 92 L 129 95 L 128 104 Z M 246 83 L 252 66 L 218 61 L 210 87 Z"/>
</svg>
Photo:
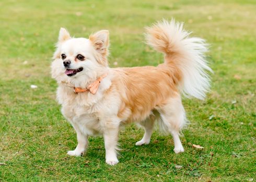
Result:
<svg viewBox="0 0 256 182">
<path fill-rule="evenodd" d="M 145 120 L 153 109 L 177 95 L 180 72 L 168 64 L 114 69 L 112 85 L 122 98 L 118 116 L 127 122 Z M 108 91 L 110 92 L 110 91 Z"/>
</svg>

